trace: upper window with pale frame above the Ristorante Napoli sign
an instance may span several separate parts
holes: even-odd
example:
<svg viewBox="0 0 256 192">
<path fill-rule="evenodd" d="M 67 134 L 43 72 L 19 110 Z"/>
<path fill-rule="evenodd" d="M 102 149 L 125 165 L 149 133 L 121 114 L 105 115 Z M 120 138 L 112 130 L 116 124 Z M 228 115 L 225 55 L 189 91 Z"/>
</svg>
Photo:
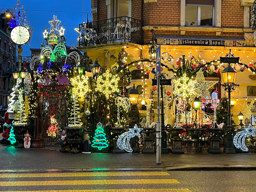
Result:
<svg viewBox="0 0 256 192">
<path fill-rule="evenodd" d="M 186 26 L 214 26 L 214 0 L 186 0 Z"/>
</svg>

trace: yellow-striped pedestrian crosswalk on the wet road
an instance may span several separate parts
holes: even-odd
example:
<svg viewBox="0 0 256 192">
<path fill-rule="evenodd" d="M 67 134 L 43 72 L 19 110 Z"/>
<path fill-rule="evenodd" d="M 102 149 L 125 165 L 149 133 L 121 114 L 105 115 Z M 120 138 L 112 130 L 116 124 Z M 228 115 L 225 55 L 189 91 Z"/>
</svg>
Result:
<svg viewBox="0 0 256 192">
<path fill-rule="evenodd" d="M 59 172 L 0 174 L 0 191 L 191 192 L 168 172 Z"/>
</svg>

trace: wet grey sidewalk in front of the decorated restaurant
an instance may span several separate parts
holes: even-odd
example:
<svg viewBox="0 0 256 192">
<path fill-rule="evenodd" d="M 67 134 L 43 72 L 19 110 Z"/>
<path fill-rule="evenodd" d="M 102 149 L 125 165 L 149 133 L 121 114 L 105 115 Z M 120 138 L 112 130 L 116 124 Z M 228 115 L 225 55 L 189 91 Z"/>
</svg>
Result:
<svg viewBox="0 0 256 192">
<path fill-rule="evenodd" d="M 256 170 L 256 154 L 61 153 L 56 148 L 16 149 L 0 145 L 0 172 L 22 171 L 125 171 L 125 170 Z M 40 170 L 39 170 L 40 169 Z M 46 170 L 56 169 L 56 170 Z M 7 171 L 9 170 L 9 171 Z"/>
</svg>

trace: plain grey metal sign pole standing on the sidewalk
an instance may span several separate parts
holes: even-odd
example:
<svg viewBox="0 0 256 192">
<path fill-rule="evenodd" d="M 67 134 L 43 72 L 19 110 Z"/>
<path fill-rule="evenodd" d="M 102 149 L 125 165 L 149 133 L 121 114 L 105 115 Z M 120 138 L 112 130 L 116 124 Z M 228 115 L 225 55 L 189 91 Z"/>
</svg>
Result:
<svg viewBox="0 0 256 192">
<path fill-rule="evenodd" d="M 160 75 L 157 76 L 157 164 L 161 164 L 161 123 L 160 123 L 160 98 L 159 98 L 159 88 L 160 88 Z"/>
</svg>

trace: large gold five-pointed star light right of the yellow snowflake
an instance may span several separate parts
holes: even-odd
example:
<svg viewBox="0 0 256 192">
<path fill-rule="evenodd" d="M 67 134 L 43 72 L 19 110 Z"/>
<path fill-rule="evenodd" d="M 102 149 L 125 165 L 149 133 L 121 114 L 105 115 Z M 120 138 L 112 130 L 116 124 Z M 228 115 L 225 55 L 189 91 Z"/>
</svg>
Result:
<svg viewBox="0 0 256 192">
<path fill-rule="evenodd" d="M 195 90 L 197 90 L 198 97 L 204 99 L 211 99 L 209 89 L 219 81 L 206 81 L 202 69 L 197 72 L 195 77 Z"/>
</svg>

